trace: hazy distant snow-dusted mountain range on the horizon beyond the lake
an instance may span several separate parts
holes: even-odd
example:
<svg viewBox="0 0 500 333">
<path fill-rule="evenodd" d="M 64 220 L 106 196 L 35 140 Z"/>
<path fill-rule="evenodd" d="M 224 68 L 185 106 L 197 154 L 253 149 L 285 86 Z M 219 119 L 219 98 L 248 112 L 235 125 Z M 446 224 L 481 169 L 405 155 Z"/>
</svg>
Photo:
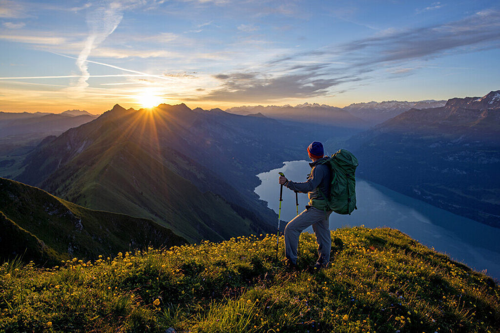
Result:
<svg viewBox="0 0 500 333">
<path fill-rule="evenodd" d="M 242 115 L 261 114 L 271 118 L 297 122 L 336 125 L 342 127 L 367 128 L 407 111 L 411 108 L 432 108 L 444 106 L 446 101 L 424 100 L 418 102 L 368 102 L 353 103 L 343 108 L 318 103 L 304 103 L 295 106 L 238 106 L 226 112 Z"/>
</svg>

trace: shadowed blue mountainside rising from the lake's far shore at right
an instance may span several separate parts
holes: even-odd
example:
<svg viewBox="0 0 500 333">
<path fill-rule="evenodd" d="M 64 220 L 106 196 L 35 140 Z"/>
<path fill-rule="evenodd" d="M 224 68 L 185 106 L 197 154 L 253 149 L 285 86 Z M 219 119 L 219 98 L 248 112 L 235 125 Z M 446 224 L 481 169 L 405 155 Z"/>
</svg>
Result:
<svg viewBox="0 0 500 333">
<path fill-rule="evenodd" d="M 358 174 L 500 227 L 500 91 L 411 109 L 352 138 Z M 355 147 L 355 148 L 354 148 Z"/>
</svg>

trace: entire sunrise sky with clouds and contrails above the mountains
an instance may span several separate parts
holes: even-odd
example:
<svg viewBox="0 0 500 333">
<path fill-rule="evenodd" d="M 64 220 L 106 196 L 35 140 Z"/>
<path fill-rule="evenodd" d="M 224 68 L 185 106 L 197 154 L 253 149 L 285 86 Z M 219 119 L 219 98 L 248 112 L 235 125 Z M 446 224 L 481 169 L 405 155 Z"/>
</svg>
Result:
<svg viewBox="0 0 500 333">
<path fill-rule="evenodd" d="M 0 0 L 0 111 L 483 96 L 497 0 Z"/>
</svg>

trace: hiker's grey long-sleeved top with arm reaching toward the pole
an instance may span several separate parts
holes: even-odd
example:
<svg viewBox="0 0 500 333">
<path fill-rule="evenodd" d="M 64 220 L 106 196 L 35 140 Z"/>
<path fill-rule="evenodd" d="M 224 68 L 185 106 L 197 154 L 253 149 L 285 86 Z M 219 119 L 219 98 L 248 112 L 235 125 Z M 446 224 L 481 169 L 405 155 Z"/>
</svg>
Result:
<svg viewBox="0 0 500 333">
<path fill-rule="evenodd" d="M 286 187 L 292 191 L 307 193 L 309 197 L 309 205 L 311 199 L 323 199 L 323 196 L 317 190 L 318 187 L 324 195 L 329 195 L 331 184 L 331 169 L 328 164 L 320 164 L 327 157 L 318 159 L 315 162 L 309 163 L 312 168 L 306 182 L 296 183 L 288 181 Z"/>
</svg>

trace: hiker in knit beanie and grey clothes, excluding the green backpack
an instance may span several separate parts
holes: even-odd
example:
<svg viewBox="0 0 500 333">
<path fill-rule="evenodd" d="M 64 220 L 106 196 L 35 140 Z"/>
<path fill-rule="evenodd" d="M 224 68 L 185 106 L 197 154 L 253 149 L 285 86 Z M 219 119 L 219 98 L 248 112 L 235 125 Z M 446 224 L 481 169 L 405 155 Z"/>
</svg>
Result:
<svg viewBox="0 0 500 333">
<path fill-rule="evenodd" d="M 324 157 L 323 145 L 314 141 L 307 147 L 307 153 L 312 163 L 309 163 L 311 172 L 304 183 L 289 181 L 283 176 L 279 176 L 279 184 L 292 191 L 307 193 L 309 203 L 305 210 L 288 222 L 284 229 L 284 248 L 287 264 L 296 267 L 298 237 L 302 230 L 312 225 L 312 230 L 316 235 L 318 244 L 318 259 L 314 268 L 326 267 L 330 261 L 331 236 L 328 218 L 330 210 L 324 209 L 324 202 L 329 198 L 324 198 L 330 193 L 331 168 L 328 164 L 322 164 L 327 157 Z M 321 208 L 321 202 L 323 203 Z"/>
</svg>

